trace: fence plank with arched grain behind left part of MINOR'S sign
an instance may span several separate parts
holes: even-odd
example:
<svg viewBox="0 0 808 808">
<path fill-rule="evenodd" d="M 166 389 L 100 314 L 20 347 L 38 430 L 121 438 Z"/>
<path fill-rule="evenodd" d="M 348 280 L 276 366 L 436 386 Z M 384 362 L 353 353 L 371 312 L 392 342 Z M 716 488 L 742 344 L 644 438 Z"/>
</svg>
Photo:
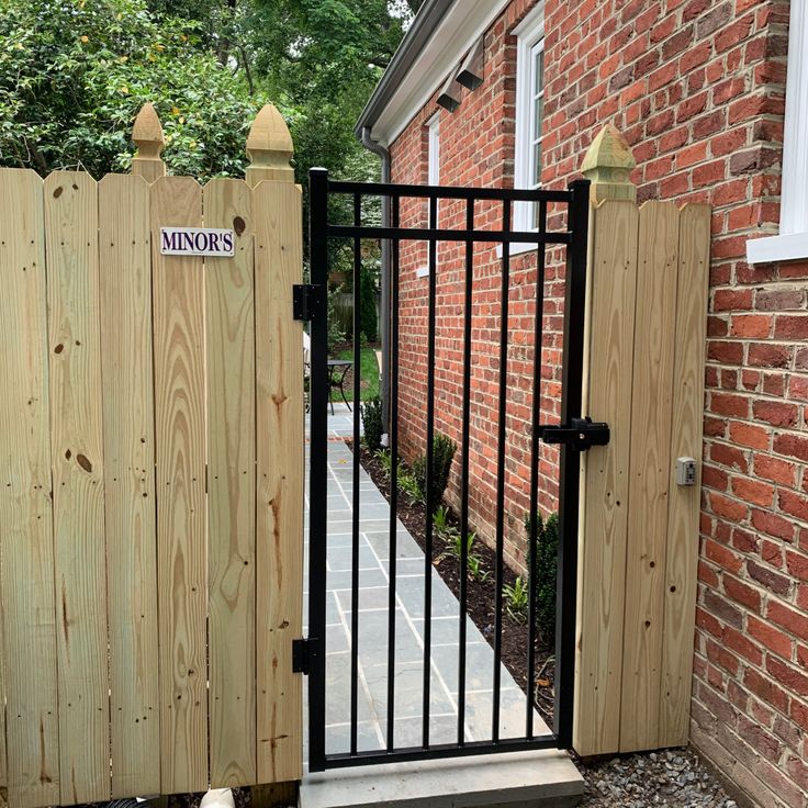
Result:
<svg viewBox="0 0 808 808">
<path fill-rule="evenodd" d="M 160 227 L 202 225 L 202 189 L 150 186 L 161 790 L 207 788 L 204 274 L 161 256 Z"/>
</svg>

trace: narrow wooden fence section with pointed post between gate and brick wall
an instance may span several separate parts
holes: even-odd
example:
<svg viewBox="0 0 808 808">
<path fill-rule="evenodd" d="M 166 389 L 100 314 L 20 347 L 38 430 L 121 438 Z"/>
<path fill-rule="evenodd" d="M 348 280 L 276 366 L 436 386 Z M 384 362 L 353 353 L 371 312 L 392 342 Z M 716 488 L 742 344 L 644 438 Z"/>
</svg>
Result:
<svg viewBox="0 0 808 808">
<path fill-rule="evenodd" d="M 584 456 L 574 747 L 687 742 L 698 563 L 710 207 L 646 202 L 614 127 L 590 149 L 584 412 L 611 427 Z M 680 486 L 675 463 L 697 461 Z"/>
</svg>

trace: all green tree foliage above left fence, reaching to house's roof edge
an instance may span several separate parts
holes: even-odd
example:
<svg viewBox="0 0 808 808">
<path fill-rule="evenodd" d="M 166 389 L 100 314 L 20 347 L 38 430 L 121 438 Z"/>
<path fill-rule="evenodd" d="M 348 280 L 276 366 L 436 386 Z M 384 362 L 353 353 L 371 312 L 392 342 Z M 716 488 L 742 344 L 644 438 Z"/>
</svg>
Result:
<svg viewBox="0 0 808 808">
<path fill-rule="evenodd" d="M 0 164 L 122 170 L 144 101 L 175 172 L 239 175 L 271 100 L 314 165 L 372 178 L 352 126 L 422 0 L 0 0 Z"/>
</svg>

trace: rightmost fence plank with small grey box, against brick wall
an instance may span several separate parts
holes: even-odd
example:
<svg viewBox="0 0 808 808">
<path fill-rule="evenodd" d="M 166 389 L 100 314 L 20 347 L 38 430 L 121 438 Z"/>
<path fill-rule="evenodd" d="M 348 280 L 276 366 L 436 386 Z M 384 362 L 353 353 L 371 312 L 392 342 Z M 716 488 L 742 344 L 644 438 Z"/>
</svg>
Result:
<svg viewBox="0 0 808 808">
<path fill-rule="evenodd" d="M 698 517 L 702 490 L 704 373 L 710 265 L 710 206 L 680 212 L 676 352 L 673 369 L 670 502 L 658 747 L 687 743 L 696 619 Z M 675 460 L 695 458 L 696 484 L 676 485 Z"/>
</svg>

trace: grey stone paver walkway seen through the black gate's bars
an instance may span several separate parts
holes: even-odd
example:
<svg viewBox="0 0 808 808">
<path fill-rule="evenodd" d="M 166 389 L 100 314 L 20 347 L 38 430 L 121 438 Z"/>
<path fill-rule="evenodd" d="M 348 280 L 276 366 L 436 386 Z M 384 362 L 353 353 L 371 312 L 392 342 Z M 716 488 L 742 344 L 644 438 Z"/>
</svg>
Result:
<svg viewBox="0 0 808 808">
<path fill-rule="evenodd" d="M 328 417 L 328 550 L 326 582 L 326 752 L 347 752 L 350 722 L 351 495 L 352 454 L 343 437 L 352 434 L 352 416 L 335 405 Z M 386 745 L 388 598 L 390 508 L 360 469 L 358 745 Z M 307 490 L 306 490 L 307 491 Z M 306 500 L 306 506 L 308 505 Z M 307 507 L 306 507 L 307 512 Z M 306 513 L 307 517 L 307 513 Z M 307 518 L 306 518 L 307 524 Z M 307 539 L 307 536 L 306 536 Z M 306 548 L 307 550 L 307 548 Z M 419 745 L 424 702 L 424 553 L 399 521 L 396 528 L 395 725 L 396 747 Z M 438 573 L 431 577 L 430 741 L 458 737 L 459 604 Z M 306 587 L 307 590 L 307 587 Z M 471 620 L 467 624 L 467 740 L 491 738 L 494 652 Z M 501 737 L 524 734 L 526 698 L 502 667 Z M 548 731 L 536 716 L 536 731 Z"/>
</svg>

